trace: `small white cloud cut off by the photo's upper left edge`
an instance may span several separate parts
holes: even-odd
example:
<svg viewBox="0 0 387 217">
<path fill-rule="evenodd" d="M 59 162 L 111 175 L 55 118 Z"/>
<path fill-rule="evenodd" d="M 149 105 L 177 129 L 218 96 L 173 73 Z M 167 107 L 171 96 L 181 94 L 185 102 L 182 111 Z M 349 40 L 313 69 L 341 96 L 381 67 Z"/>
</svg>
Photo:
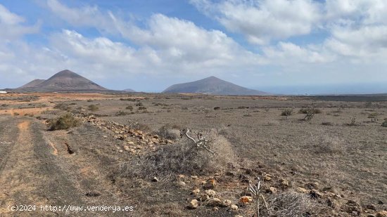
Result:
<svg viewBox="0 0 387 217">
<path fill-rule="evenodd" d="M 11 40 L 23 36 L 24 34 L 33 34 L 39 32 L 39 23 L 34 26 L 23 25 L 25 19 L 15 13 L 8 11 L 6 7 L 0 4 L 0 39 Z"/>
</svg>

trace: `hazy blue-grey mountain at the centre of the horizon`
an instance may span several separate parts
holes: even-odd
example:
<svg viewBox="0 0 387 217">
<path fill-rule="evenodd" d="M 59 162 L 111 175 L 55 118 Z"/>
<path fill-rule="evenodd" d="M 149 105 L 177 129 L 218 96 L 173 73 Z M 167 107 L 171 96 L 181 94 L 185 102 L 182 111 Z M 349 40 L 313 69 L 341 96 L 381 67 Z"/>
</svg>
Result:
<svg viewBox="0 0 387 217">
<path fill-rule="evenodd" d="M 184 84 L 174 84 L 163 93 L 208 93 L 214 95 L 267 95 L 263 91 L 244 88 L 217 77 L 208 77 Z"/>
</svg>

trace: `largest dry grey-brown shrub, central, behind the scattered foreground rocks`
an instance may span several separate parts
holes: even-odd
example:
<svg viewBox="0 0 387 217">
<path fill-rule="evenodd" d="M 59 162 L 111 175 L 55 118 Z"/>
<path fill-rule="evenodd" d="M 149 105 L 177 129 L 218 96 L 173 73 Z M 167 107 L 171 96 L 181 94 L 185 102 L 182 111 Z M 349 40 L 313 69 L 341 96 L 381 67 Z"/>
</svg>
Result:
<svg viewBox="0 0 387 217">
<path fill-rule="evenodd" d="M 209 137 L 214 138 L 216 133 Z M 207 150 L 196 147 L 191 140 L 182 139 L 179 143 L 163 145 L 155 152 L 150 152 L 132 162 L 120 165 L 120 176 L 150 179 L 154 176 L 160 180 L 170 180 L 178 174 L 209 175 L 225 171 L 234 165 L 235 156 L 230 143 L 222 136 L 210 145 L 214 156 Z"/>
</svg>

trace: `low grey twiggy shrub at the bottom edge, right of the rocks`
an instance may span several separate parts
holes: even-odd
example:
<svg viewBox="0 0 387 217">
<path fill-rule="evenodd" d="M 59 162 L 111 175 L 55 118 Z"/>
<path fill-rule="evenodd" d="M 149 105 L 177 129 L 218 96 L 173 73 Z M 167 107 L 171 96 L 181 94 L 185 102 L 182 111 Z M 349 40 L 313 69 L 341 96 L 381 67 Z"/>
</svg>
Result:
<svg viewBox="0 0 387 217">
<path fill-rule="evenodd" d="M 309 195 L 293 191 L 270 195 L 267 205 L 269 210 L 263 209 L 262 216 L 301 217 L 312 216 L 321 211 L 321 207 Z"/>
</svg>

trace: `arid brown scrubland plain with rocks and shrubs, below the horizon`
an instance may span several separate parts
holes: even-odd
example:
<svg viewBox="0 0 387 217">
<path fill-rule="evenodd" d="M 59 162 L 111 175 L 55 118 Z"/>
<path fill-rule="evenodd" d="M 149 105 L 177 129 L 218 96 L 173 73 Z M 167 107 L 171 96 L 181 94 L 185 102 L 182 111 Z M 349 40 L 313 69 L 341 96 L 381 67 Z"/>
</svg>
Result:
<svg viewBox="0 0 387 217">
<path fill-rule="evenodd" d="M 9 165 L 23 159 L 11 152 L 23 144 L 1 144 L 0 184 L 28 188 L 0 191 L 0 216 L 20 200 L 135 206 L 103 216 L 253 216 L 257 198 L 260 216 L 386 213 L 387 103 L 380 97 L 8 94 L 0 96 L 0 114 L 2 140 L 31 140 L 33 164 L 49 165 L 20 173 L 24 164 Z M 217 154 L 180 137 L 185 127 L 194 138 L 200 131 L 215 139 L 208 146 Z M 265 201 L 247 190 L 259 180 Z M 51 192 L 28 181 L 51 181 Z"/>
</svg>

